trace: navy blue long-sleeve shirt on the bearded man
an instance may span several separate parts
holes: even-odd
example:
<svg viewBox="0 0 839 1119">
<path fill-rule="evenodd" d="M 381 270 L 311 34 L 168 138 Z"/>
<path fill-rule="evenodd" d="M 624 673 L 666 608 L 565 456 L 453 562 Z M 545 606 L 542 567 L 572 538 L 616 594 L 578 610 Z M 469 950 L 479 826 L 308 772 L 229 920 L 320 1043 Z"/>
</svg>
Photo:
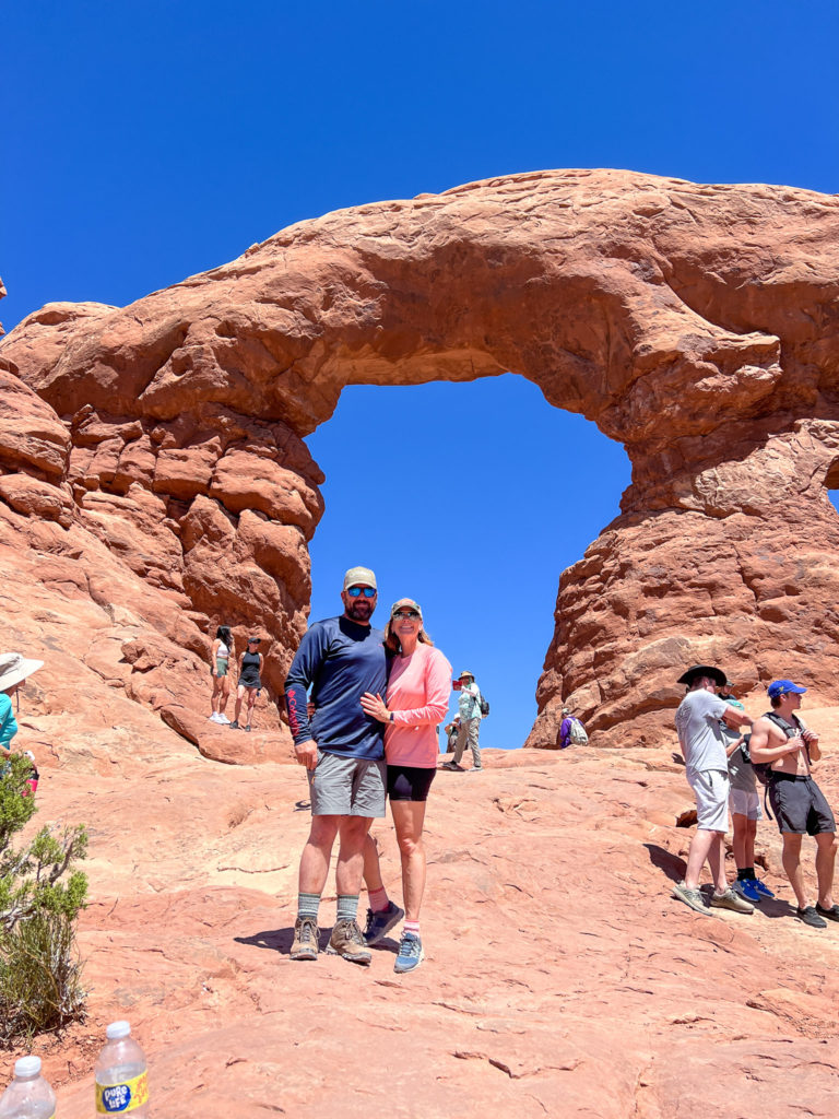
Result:
<svg viewBox="0 0 839 1119">
<path fill-rule="evenodd" d="M 318 749 L 347 758 L 385 756 L 385 724 L 365 715 L 365 692 L 384 697 L 385 634 L 349 618 L 314 622 L 300 642 L 285 678 L 285 705 L 294 742 L 314 739 Z M 311 688 L 315 712 L 307 715 Z"/>
</svg>

